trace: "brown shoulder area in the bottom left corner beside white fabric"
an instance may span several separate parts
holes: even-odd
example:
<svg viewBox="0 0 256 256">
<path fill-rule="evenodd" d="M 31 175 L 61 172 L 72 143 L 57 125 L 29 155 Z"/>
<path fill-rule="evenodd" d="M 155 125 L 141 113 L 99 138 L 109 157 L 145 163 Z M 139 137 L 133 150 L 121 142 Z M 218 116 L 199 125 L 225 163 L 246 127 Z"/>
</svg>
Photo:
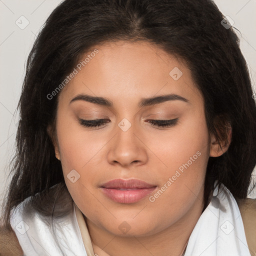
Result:
<svg viewBox="0 0 256 256">
<path fill-rule="evenodd" d="M 0 228 L 0 255 L 1 256 L 22 256 L 23 251 L 19 245 L 16 234 L 13 230 Z"/>
</svg>

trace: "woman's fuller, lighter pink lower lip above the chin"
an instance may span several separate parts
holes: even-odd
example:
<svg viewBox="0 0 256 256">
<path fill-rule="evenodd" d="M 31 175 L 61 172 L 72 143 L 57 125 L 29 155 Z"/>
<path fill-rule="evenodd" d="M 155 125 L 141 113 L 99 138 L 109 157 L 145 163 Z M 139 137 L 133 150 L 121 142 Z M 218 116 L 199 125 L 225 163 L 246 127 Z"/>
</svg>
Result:
<svg viewBox="0 0 256 256">
<path fill-rule="evenodd" d="M 120 190 L 116 188 L 101 187 L 102 192 L 112 199 L 113 201 L 120 203 L 132 203 L 137 202 L 152 193 L 156 187 L 138 188 L 134 190 Z"/>
</svg>

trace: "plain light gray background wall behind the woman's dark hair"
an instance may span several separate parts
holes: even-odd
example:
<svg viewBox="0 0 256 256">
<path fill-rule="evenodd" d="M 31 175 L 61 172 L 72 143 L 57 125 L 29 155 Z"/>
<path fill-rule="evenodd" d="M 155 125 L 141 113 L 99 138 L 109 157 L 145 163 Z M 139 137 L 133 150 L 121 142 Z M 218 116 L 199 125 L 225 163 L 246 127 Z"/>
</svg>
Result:
<svg viewBox="0 0 256 256">
<path fill-rule="evenodd" d="M 25 61 L 36 34 L 60 2 L 61 0 L 0 0 L 0 205 L 9 182 L 8 162 L 14 153 L 18 120 L 18 113 L 14 115 L 14 111 L 24 78 Z M 215 0 L 215 3 L 225 16 L 231 17 L 233 26 L 241 32 L 240 47 L 255 87 L 256 0 Z M 20 16 L 24 16 L 29 22 L 24 29 L 20 29 L 15 23 L 25 24 L 25 19 Z M 256 191 L 248 196 L 256 197 Z"/>
</svg>

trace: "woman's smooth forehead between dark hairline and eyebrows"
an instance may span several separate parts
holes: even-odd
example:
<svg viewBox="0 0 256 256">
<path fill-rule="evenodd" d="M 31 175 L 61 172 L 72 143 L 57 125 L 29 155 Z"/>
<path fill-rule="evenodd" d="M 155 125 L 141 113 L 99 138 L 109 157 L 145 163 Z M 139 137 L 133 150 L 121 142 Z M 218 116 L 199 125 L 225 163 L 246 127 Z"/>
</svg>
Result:
<svg viewBox="0 0 256 256">
<path fill-rule="evenodd" d="M 157 93 L 201 98 L 184 61 L 147 41 L 94 45 L 74 68 L 76 74 L 60 95 L 69 101 L 78 93 L 104 96 L 120 103 Z"/>
</svg>

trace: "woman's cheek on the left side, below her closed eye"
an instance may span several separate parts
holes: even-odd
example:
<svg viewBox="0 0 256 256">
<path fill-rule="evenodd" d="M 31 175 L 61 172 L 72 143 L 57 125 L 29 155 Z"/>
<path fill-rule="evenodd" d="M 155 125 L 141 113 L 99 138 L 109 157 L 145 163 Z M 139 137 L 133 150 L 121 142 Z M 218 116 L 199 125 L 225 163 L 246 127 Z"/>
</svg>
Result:
<svg viewBox="0 0 256 256">
<path fill-rule="evenodd" d="M 65 119 L 61 113 L 58 116 L 56 128 L 63 176 L 71 196 L 77 200 L 80 191 L 87 191 L 85 186 L 91 190 L 96 182 L 93 168 L 105 142 L 90 136 L 75 119 Z"/>
</svg>

